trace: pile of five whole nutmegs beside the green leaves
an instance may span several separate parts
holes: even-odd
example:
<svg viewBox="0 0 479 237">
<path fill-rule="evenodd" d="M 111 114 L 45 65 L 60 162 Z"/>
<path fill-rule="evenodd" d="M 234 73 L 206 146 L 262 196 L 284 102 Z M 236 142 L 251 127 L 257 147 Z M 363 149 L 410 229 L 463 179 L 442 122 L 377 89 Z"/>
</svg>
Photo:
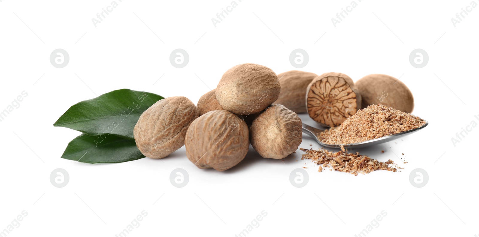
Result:
<svg viewBox="0 0 479 237">
<path fill-rule="evenodd" d="M 198 168 L 218 171 L 242 161 L 250 143 L 264 158 L 285 158 L 301 144 L 302 123 L 295 112 L 272 105 L 280 89 L 270 68 L 236 65 L 197 107 L 186 97 L 168 97 L 148 108 L 134 129 L 137 147 L 160 159 L 185 145 Z"/>
</svg>

